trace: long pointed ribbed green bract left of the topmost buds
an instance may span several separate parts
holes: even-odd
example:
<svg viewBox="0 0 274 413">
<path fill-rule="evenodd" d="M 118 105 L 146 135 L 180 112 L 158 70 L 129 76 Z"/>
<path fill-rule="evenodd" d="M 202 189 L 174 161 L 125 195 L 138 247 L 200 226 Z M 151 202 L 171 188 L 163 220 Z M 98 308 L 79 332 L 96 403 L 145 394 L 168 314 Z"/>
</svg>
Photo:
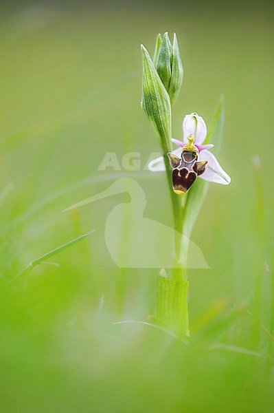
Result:
<svg viewBox="0 0 274 413">
<path fill-rule="evenodd" d="M 146 47 L 141 45 L 143 59 L 143 95 L 141 106 L 155 126 L 161 147 L 167 153 L 171 147 L 170 97 L 153 65 Z"/>
</svg>

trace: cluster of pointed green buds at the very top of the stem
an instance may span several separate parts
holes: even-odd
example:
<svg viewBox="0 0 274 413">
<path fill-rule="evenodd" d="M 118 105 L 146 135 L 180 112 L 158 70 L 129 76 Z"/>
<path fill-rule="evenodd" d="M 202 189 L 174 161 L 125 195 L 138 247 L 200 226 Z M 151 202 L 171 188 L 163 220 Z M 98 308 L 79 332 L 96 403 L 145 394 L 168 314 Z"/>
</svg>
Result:
<svg viewBox="0 0 274 413">
<path fill-rule="evenodd" d="M 157 47 L 155 48 L 155 54 L 159 50 L 157 57 L 155 56 L 155 67 L 157 72 L 168 91 L 170 96 L 170 102 L 173 103 L 176 100 L 183 83 L 183 65 L 181 62 L 181 56 L 179 47 L 174 33 L 173 45 L 170 43 L 168 33 L 163 35 L 163 41 L 159 47 L 159 35 L 157 37 Z"/>
</svg>

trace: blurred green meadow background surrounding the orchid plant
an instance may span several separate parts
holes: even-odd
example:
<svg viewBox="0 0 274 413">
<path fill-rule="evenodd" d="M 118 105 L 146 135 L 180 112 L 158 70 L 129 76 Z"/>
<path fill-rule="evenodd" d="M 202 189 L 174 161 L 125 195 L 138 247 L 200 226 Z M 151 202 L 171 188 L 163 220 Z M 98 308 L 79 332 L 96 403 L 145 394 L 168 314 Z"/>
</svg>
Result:
<svg viewBox="0 0 274 413">
<path fill-rule="evenodd" d="M 0 22 L 0 411 L 272 412 L 271 1 L 9 1 Z M 231 176 L 210 186 L 194 229 L 210 269 L 189 271 L 187 343 L 113 324 L 155 313 L 157 268 L 117 268 L 104 242 L 127 196 L 61 213 L 127 176 L 146 192 L 144 216 L 172 224 L 164 174 L 98 171 L 106 151 L 140 151 L 142 165 L 159 151 L 139 46 L 152 53 L 165 31 L 185 69 L 173 136 L 194 111 L 209 124 L 223 94 Z M 91 229 L 58 266 L 9 282 Z"/>
</svg>

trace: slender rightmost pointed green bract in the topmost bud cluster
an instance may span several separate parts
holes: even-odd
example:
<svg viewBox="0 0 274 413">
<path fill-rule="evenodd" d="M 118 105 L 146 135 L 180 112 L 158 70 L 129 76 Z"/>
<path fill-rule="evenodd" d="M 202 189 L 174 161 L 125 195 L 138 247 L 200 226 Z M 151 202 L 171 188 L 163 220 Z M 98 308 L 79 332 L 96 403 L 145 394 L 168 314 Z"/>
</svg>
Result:
<svg viewBox="0 0 274 413">
<path fill-rule="evenodd" d="M 172 67 L 171 67 L 171 79 L 168 94 L 170 95 L 170 102 L 174 103 L 178 97 L 183 83 L 183 65 L 181 61 L 179 46 L 174 33 L 173 38 L 173 57 L 172 57 Z"/>
</svg>

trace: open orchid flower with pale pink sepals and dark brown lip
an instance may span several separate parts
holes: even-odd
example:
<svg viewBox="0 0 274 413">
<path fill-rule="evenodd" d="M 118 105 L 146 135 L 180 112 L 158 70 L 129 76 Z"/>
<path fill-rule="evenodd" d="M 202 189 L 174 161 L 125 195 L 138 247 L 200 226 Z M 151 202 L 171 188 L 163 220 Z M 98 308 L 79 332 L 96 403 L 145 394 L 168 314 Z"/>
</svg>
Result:
<svg viewBox="0 0 274 413">
<path fill-rule="evenodd" d="M 185 193 L 197 177 L 209 182 L 227 185 L 231 178 L 220 167 L 216 157 L 208 149 L 214 145 L 203 145 L 207 136 L 205 120 L 195 112 L 183 120 L 183 141 L 172 139 L 178 148 L 168 153 L 172 167 L 175 193 Z M 165 171 L 163 156 L 149 162 L 150 171 Z"/>
</svg>

